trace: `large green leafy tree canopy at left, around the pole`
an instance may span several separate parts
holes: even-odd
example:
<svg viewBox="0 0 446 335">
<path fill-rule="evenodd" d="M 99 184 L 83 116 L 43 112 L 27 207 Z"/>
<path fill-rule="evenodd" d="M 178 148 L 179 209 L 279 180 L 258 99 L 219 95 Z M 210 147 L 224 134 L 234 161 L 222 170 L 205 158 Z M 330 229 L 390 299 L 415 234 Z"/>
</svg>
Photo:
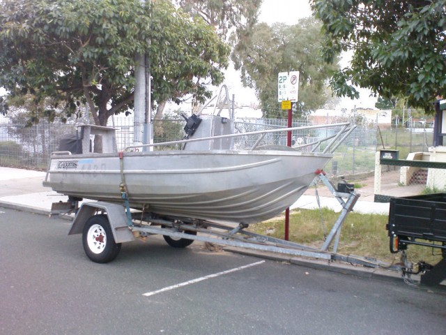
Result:
<svg viewBox="0 0 446 335">
<path fill-rule="evenodd" d="M 135 54 L 148 55 L 161 105 L 208 98 L 206 84 L 222 82 L 229 50 L 203 20 L 166 0 L 0 2 L 0 86 L 11 96 L 33 94 L 36 105 L 50 97 L 68 115 L 86 103 L 104 126 L 133 106 Z"/>
</svg>

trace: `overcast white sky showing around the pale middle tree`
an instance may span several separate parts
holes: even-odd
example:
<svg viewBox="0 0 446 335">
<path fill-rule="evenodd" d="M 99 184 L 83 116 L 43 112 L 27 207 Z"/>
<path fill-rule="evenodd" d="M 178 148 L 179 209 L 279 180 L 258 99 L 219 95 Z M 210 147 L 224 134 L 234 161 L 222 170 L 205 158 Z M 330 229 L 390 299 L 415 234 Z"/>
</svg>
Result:
<svg viewBox="0 0 446 335">
<path fill-rule="evenodd" d="M 308 0 L 263 0 L 259 21 L 273 24 L 281 22 L 285 24 L 296 24 L 303 17 L 312 15 Z M 348 64 L 348 57 L 341 61 L 342 66 Z M 233 68 L 226 71 L 225 84 L 229 87 L 229 93 L 236 95 L 236 102 L 249 105 L 256 103 L 254 89 L 244 88 L 240 82 L 240 73 Z M 337 107 L 351 110 L 355 107 L 373 108 L 376 98 L 370 97 L 367 89 L 358 89 L 360 99 L 352 101 L 350 98 L 342 98 Z"/>
</svg>

